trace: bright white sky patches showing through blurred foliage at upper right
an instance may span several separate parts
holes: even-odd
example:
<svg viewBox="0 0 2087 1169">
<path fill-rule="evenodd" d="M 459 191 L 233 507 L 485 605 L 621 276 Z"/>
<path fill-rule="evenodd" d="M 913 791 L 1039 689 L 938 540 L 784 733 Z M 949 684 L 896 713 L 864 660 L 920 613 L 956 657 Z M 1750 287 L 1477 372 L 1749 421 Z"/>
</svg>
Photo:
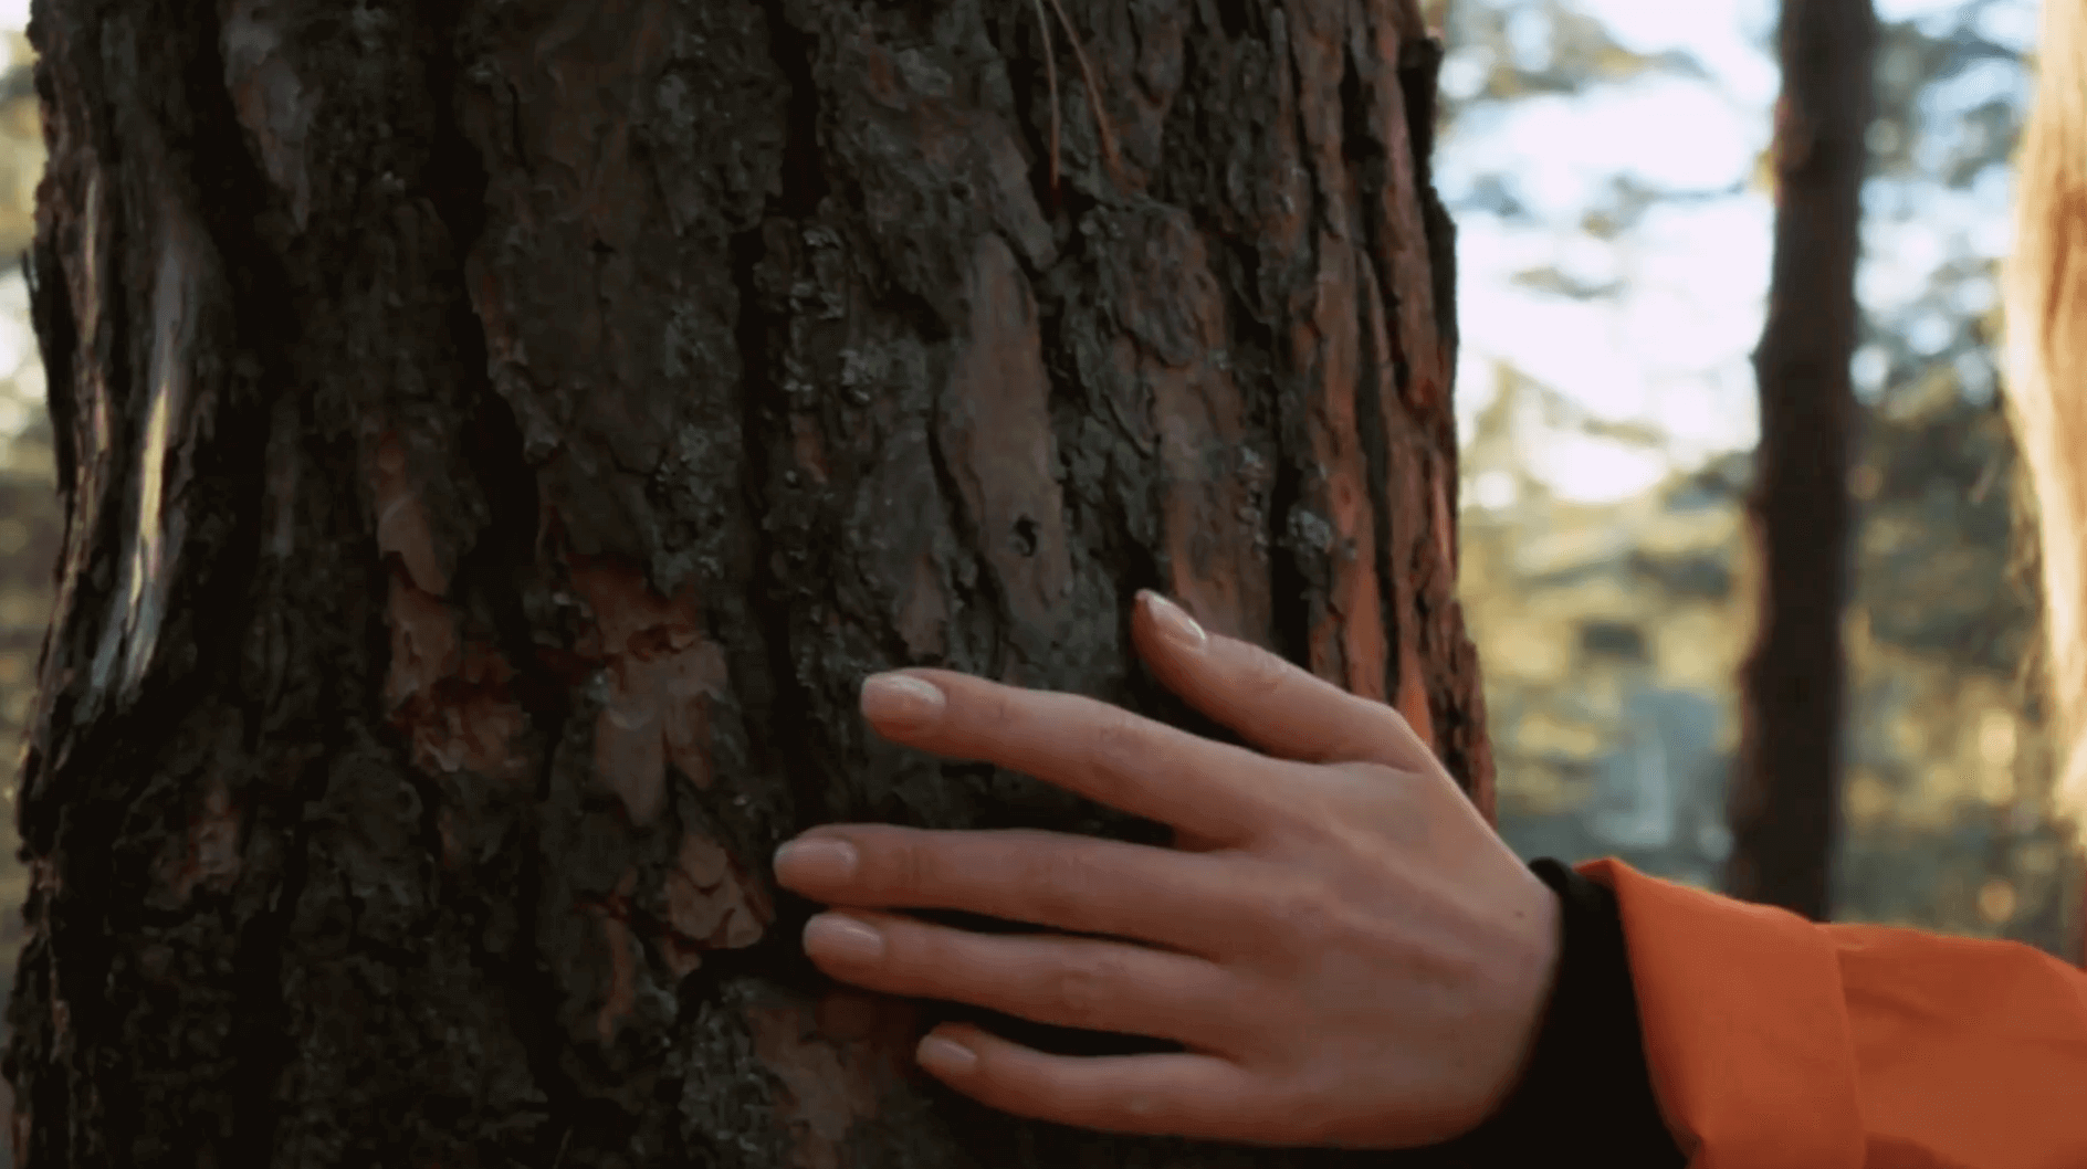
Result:
<svg viewBox="0 0 2087 1169">
<path fill-rule="evenodd" d="M 1962 6 L 1876 4 L 1885 21 L 1945 21 Z M 1636 495 L 1672 470 L 1755 438 L 1747 355 L 1768 296 L 1774 207 L 1768 192 L 1743 184 L 1768 146 L 1778 71 L 1766 44 L 1770 0 L 1578 0 L 1578 8 L 1626 48 L 1688 52 L 1709 77 L 1624 81 L 1578 98 L 1490 106 L 1442 140 L 1440 182 L 1461 242 L 1465 340 L 1457 392 L 1465 430 L 1492 395 L 1492 363 L 1507 361 L 1599 418 L 1653 424 L 1672 436 L 1672 463 L 1584 436 L 1528 443 L 1524 457 L 1536 478 L 1563 497 L 1603 501 Z M 1983 23 L 1995 42 L 2029 48 L 2035 0 L 1991 4 Z M 1509 25 L 1511 40 L 1513 31 Z M 1540 52 L 1538 38 L 1530 44 Z M 1482 75 L 1480 63 L 1453 56 L 1444 84 Z M 2022 84 L 2014 67 L 1968 69 L 1937 86 L 1930 113 L 1947 125 L 1951 106 L 1970 109 L 1997 86 Z M 1503 171 L 1538 223 L 1457 207 L 1476 175 Z M 1924 188 L 1918 217 L 1887 184 L 1872 184 L 1860 276 L 1870 311 L 1903 307 L 1949 259 L 1995 259 L 2006 250 L 2010 188 L 2004 169 L 1995 171 L 1968 194 L 1935 198 Z M 1597 240 L 1580 230 L 1582 211 L 1620 175 L 1705 196 L 1655 205 L 1630 232 Z M 1582 284 L 1615 282 L 1617 292 L 1576 301 L 1515 284 L 1517 271 L 1544 265 Z M 1874 382 L 1876 365 L 1876 355 L 1857 361 L 1857 374 Z"/>
</svg>

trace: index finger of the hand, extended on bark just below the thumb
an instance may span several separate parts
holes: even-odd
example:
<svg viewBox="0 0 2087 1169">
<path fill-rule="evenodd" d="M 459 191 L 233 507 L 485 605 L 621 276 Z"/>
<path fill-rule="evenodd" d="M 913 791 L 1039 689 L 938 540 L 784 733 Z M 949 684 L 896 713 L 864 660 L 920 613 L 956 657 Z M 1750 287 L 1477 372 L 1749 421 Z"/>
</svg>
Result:
<svg viewBox="0 0 2087 1169">
<path fill-rule="evenodd" d="M 862 685 L 862 714 L 893 743 L 1033 774 L 1221 845 L 1279 814 L 1271 779 L 1298 766 L 1092 697 L 952 670 L 877 674 Z"/>
</svg>

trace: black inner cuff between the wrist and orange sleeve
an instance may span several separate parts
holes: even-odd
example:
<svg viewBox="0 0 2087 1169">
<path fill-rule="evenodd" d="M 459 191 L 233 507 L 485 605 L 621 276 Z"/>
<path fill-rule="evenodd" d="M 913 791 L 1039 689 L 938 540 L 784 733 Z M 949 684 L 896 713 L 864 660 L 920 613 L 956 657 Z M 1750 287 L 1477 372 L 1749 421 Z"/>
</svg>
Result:
<svg viewBox="0 0 2087 1169">
<path fill-rule="evenodd" d="M 1434 1146 L 1446 1165 L 1603 1165 L 1684 1169 L 1653 1100 L 1638 996 L 1615 893 L 1538 860 L 1559 896 L 1559 973 L 1521 1083 L 1469 1134 Z M 1405 1161 L 1400 1161 L 1405 1165 Z"/>
</svg>

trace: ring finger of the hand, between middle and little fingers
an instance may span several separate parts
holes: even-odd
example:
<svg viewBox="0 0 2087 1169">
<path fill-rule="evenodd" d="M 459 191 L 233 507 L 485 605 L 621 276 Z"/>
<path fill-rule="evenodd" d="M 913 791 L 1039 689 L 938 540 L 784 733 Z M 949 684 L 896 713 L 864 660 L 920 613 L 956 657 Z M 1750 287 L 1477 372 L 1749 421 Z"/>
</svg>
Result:
<svg viewBox="0 0 2087 1169">
<path fill-rule="evenodd" d="M 970 933 L 897 914 L 826 912 L 806 923 L 803 948 L 822 971 L 864 989 L 968 1002 L 1054 1027 L 1200 1048 L 1229 1040 L 1238 1027 L 1240 996 L 1221 967 L 1125 941 Z"/>
</svg>

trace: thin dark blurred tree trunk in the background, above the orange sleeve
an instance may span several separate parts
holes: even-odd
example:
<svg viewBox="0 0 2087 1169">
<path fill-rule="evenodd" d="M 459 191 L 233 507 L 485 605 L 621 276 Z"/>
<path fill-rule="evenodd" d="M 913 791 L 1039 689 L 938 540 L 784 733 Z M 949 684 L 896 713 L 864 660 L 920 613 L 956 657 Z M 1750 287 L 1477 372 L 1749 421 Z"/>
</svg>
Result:
<svg viewBox="0 0 2087 1169">
<path fill-rule="evenodd" d="M 1753 355 L 1761 616 L 1741 676 L 1726 891 L 1820 921 L 1841 818 L 1849 359 L 1876 15 L 1870 0 L 1784 0 L 1780 40 L 1776 259 Z"/>
</svg>

